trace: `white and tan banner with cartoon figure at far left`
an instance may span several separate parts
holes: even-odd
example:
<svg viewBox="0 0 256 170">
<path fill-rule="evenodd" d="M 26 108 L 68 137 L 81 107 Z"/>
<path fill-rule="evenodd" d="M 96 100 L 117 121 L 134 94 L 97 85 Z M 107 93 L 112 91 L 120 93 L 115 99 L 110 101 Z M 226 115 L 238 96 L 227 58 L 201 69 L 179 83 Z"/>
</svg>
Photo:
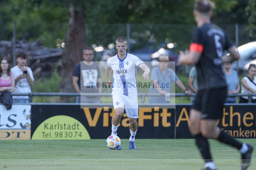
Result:
<svg viewBox="0 0 256 170">
<path fill-rule="evenodd" d="M 6 110 L 0 105 L 0 139 L 30 139 L 31 106 L 13 105 Z"/>
</svg>

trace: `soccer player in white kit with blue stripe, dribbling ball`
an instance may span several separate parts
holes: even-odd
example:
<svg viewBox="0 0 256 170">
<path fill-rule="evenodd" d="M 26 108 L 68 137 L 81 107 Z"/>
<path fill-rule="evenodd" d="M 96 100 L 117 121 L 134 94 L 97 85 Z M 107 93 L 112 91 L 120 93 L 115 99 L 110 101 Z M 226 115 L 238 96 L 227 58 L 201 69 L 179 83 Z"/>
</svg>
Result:
<svg viewBox="0 0 256 170">
<path fill-rule="evenodd" d="M 112 118 L 112 133 L 111 135 L 117 135 L 117 127 L 123 116 L 124 109 L 127 117 L 129 118 L 129 128 L 131 137 L 129 139 L 129 149 L 134 150 L 135 147 L 135 135 L 138 128 L 138 98 L 137 98 L 137 86 L 136 86 L 136 69 L 140 67 L 144 73 L 143 78 L 148 80 L 150 69 L 146 64 L 138 57 L 126 52 L 128 47 L 127 40 L 123 37 L 119 37 L 116 41 L 117 55 L 111 57 L 107 61 L 106 67 L 106 84 L 112 85 L 112 97 L 113 106 L 115 109 L 115 115 Z M 113 70 L 113 83 L 110 82 L 109 76 Z M 118 150 L 122 146 L 120 145 Z"/>
</svg>

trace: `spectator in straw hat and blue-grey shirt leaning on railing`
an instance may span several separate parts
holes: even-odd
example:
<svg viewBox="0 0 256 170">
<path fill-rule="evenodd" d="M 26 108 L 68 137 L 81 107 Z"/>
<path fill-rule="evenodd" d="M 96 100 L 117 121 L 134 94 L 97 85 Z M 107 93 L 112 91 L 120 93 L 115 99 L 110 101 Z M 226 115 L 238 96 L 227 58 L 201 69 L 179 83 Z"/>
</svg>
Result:
<svg viewBox="0 0 256 170">
<path fill-rule="evenodd" d="M 172 82 L 175 82 L 189 96 L 190 92 L 185 88 L 174 71 L 167 68 L 170 62 L 169 57 L 167 55 L 161 55 L 158 61 L 159 67 L 155 67 L 152 70 L 151 81 L 153 85 L 150 86 L 149 93 L 159 93 L 163 96 L 150 96 L 148 103 L 170 103 L 169 97 L 165 97 L 165 95 L 170 93 Z"/>
</svg>

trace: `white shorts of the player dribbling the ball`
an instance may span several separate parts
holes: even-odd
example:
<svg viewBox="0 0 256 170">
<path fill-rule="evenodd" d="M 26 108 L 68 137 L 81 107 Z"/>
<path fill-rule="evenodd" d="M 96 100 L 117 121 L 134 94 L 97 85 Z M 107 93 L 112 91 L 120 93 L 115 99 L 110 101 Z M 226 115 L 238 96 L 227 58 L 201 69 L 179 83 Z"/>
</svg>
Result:
<svg viewBox="0 0 256 170">
<path fill-rule="evenodd" d="M 125 96 L 120 93 L 112 93 L 114 109 L 123 107 L 128 118 L 139 118 L 138 116 L 138 96 Z"/>
</svg>

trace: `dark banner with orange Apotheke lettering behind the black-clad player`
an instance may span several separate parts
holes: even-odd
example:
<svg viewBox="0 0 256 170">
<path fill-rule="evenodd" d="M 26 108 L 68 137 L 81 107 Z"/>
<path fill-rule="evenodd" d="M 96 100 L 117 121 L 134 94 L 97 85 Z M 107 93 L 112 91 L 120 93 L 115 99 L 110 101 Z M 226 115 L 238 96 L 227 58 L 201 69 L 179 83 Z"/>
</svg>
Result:
<svg viewBox="0 0 256 170">
<path fill-rule="evenodd" d="M 176 106 L 176 139 L 192 138 L 189 132 L 189 105 Z M 256 106 L 225 105 L 217 126 L 236 138 L 256 137 Z"/>
</svg>

